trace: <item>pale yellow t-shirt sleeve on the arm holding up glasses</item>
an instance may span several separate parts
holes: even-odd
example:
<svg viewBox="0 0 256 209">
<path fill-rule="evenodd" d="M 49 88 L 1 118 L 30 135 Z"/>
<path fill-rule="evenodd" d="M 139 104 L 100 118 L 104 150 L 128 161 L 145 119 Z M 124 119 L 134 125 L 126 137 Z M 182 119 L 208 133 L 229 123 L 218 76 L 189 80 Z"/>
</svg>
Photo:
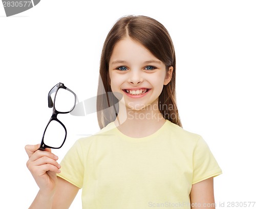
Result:
<svg viewBox="0 0 256 209">
<path fill-rule="evenodd" d="M 74 184 L 78 188 L 82 188 L 83 184 L 83 152 L 79 140 L 71 147 L 65 157 L 60 162 L 61 173 L 57 176 Z"/>
</svg>

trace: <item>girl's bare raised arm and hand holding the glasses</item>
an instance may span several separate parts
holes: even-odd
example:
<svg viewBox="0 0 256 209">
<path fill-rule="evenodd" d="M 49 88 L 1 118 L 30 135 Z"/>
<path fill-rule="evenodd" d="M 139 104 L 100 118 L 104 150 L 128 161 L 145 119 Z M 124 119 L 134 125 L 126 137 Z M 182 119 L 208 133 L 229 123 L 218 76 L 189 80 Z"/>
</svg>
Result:
<svg viewBox="0 0 256 209">
<path fill-rule="evenodd" d="M 79 188 L 56 176 L 60 166 L 57 156 L 51 150 L 37 150 L 39 145 L 25 147 L 29 156 L 27 167 L 33 175 L 39 192 L 30 209 L 65 209 L 69 208 Z"/>
</svg>

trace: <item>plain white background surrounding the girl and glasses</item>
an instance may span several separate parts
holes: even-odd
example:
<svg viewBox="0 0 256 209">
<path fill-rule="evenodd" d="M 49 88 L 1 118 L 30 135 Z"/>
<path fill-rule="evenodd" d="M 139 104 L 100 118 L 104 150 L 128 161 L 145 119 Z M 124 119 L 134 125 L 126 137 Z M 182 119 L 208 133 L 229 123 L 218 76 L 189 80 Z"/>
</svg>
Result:
<svg viewBox="0 0 256 209">
<path fill-rule="evenodd" d="M 96 96 L 102 44 L 115 21 L 127 14 L 157 19 L 173 39 L 183 128 L 204 137 L 223 170 L 215 178 L 217 207 L 255 202 L 254 5 L 41 0 L 11 17 L 1 6 L 0 208 L 27 208 L 33 201 L 38 188 L 27 170 L 24 147 L 40 143 L 52 113 L 49 90 L 62 82 L 79 101 Z M 68 129 L 67 143 L 54 150 L 60 159 L 79 137 L 99 130 L 96 113 L 58 118 Z M 80 202 L 79 192 L 71 208 L 81 208 Z"/>
</svg>

